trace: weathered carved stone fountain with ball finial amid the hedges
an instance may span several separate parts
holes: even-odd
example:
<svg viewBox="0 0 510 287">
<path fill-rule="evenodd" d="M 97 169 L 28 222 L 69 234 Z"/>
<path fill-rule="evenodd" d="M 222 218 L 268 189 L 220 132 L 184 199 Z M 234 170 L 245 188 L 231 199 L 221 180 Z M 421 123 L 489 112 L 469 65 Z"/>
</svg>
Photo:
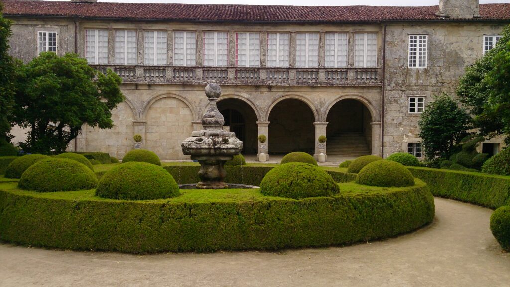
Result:
<svg viewBox="0 0 510 287">
<path fill-rule="evenodd" d="M 185 155 L 191 155 L 191 159 L 200 163 L 198 176 L 201 181 L 196 184 L 198 189 L 227 188 L 223 165 L 243 148 L 243 142 L 236 137 L 236 133 L 223 130 L 225 120 L 216 106 L 220 94 L 218 84 L 210 83 L 206 86 L 209 106 L 202 115 L 205 130 L 193 131 L 181 145 Z"/>
</svg>

